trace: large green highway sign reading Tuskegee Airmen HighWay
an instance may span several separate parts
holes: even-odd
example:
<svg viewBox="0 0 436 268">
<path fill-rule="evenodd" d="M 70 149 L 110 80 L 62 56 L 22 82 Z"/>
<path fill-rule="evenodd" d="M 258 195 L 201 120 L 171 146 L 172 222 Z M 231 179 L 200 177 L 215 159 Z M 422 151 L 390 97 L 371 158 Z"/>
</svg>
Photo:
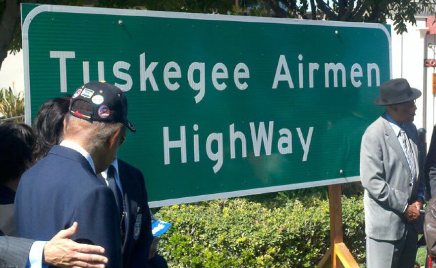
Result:
<svg viewBox="0 0 436 268">
<path fill-rule="evenodd" d="M 386 26 L 22 4 L 26 122 L 88 81 L 126 92 L 118 157 L 152 207 L 359 179 Z"/>
</svg>

